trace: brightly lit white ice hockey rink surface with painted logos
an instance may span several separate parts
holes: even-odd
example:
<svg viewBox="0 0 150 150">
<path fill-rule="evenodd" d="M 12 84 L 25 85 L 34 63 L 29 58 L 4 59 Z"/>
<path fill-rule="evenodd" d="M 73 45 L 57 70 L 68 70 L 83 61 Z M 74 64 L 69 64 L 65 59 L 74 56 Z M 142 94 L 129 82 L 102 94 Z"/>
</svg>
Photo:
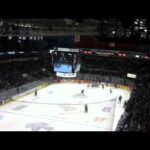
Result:
<svg viewBox="0 0 150 150">
<path fill-rule="evenodd" d="M 0 131 L 114 131 L 130 92 L 112 91 L 110 86 L 87 88 L 85 83 L 52 84 L 37 96 L 31 93 L 0 105 Z"/>
</svg>

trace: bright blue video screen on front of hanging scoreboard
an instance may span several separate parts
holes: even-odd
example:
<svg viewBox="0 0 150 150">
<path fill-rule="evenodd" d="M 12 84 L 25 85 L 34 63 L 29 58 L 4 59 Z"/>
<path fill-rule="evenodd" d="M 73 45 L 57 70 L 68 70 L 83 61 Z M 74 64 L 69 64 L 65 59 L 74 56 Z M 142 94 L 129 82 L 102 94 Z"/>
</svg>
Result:
<svg viewBox="0 0 150 150">
<path fill-rule="evenodd" d="M 54 64 L 54 71 L 55 72 L 72 73 L 72 65 L 56 63 L 56 64 Z"/>
</svg>

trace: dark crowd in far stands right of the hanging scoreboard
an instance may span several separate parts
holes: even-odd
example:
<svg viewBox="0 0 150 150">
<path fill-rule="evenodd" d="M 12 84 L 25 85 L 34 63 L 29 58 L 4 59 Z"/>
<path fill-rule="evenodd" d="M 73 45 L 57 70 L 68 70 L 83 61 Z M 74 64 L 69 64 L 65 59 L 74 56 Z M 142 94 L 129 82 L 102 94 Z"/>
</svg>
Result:
<svg viewBox="0 0 150 150">
<path fill-rule="evenodd" d="M 118 58 L 84 58 L 81 71 L 84 73 L 95 73 L 99 75 L 116 75 L 125 77 L 127 73 L 141 75 L 149 66 L 148 61 Z M 143 69 L 143 70 L 142 70 Z"/>
</svg>

